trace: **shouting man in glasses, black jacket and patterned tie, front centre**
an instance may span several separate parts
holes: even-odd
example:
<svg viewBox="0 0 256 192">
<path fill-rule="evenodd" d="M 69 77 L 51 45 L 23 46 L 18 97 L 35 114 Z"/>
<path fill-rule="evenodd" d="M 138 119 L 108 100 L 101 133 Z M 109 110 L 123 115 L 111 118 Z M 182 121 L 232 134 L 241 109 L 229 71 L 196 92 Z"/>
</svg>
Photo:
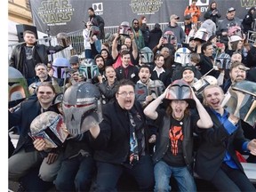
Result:
<svg viewBox="0 0 256 192">
<path fill-rule="evenodd" d="M 146 144 L 145 116 L 135 100 L 131 80 L 119 82 L 116 100 L 104 105 L 102 114 L 102 122 L 90 128 L 97 163 L 95 191 L 116 191 L 123 172 L 136 180 L 137 190 L 151 191 L 154 175 Z"/>
</svg>

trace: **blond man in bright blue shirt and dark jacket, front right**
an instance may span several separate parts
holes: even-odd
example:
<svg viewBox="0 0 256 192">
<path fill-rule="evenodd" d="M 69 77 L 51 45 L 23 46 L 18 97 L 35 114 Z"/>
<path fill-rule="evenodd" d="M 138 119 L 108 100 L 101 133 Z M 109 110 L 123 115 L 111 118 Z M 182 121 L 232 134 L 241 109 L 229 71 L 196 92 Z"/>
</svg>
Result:
<svg viewBox="0 0 256 192">
<path fill-rule="evenodd" d="M 196 173 L 220 191 L 255 191 L 236 156 L 236 150 L 250 151 L 255 156 L 256 140 L 244 138 L 239 118 L 221 107 L 223 99 L 220 86 L 204 88 L 204 103 L 213 126 L 200 132 L 202 143 L 196 152 Z"/>
</svg>

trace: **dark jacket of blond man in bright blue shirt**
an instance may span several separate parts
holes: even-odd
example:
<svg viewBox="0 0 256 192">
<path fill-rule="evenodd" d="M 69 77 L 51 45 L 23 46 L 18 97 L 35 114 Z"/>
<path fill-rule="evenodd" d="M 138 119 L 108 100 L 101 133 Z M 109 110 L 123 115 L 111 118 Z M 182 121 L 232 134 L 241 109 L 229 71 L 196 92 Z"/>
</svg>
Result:
<svg viewBox="0 0 256 192">
<path fill-rule="evenodd" d="M 246 141 L 241 124 L 239 123 L 238 129 L 229 135 L 212 110 L 210 108 L 206 108 L 206 110 L 212 117 L 213 127 L 201 132 L 202 142 L 196 153 L 196 173 L 204 180 L 212 180 L 215 172 L 220 169 L 227 150 L 239 170 L 244 172 L 235 151 L 241 151 L 242 145 Z"/>
</svg>

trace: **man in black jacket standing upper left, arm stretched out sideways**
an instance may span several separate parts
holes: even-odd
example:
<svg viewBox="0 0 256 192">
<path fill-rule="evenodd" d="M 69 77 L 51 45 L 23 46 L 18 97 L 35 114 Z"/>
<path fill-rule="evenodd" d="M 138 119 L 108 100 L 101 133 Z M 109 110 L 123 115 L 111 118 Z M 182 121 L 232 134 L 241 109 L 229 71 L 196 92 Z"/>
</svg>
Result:
<svg viewBox="0 0 256 192">
<path fill-rule="evenodd" d="M 36 71 L 34 68 L 37 63 L 47 65 L 48 54 L 60 52 L 66 47 L 60 45 L 46 46 L 36 43 L 36 34 L 33 31 L 23 32 L 24 44 L 18 44 L 13 50 L 9 65 L 16 68 L 27 79 L 28 86 L 35 82 Z"/>
</svg>

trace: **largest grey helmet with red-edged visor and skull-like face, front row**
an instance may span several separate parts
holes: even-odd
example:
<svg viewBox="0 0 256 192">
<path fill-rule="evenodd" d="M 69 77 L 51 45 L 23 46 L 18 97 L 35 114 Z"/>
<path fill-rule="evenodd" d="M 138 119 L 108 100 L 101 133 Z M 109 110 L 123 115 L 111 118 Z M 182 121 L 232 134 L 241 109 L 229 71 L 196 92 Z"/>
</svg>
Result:
<svg viewBox="0 0 256 192">
<path fill-rule="evenodd" d="M 65 124 L 72 136 L 86 132 L 102 120 L 100 90 L 89 82 L 79 82 L 64 92 L 62 108 Z"/>
</svg>

